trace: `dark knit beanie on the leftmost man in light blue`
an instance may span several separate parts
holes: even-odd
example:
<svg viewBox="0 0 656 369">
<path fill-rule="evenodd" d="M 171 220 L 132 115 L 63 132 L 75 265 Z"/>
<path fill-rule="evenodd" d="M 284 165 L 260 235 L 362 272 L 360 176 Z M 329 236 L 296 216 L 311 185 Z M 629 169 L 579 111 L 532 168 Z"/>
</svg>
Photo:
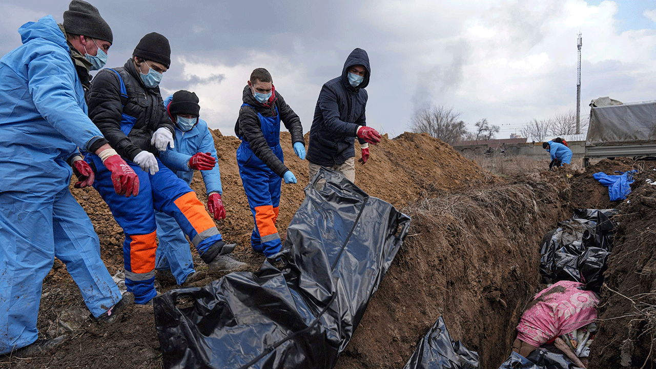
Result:
<svg viewBox="0 0 656 369">
<path fill-rule="evenodd" d="M 71 1 L 68 11 L 64 12 L 64 30 L 110 43 L 114 40 L 110 25 L 102 19 L 98 9 L 86 1 Z"/>
</svg>

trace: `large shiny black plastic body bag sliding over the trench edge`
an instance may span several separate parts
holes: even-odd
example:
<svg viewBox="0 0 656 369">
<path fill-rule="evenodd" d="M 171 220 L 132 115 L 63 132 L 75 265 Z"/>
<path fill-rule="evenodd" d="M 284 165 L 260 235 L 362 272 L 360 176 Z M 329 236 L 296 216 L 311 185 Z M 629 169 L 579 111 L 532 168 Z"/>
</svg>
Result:
<svg viewBox="0 0 656 369">
<path fill-rule="evenodd" d="M 410 218 L 325 168 L 305 188 L 279 262 L 154 299 L 165 368 L 332 368 Z"/>
</svg>

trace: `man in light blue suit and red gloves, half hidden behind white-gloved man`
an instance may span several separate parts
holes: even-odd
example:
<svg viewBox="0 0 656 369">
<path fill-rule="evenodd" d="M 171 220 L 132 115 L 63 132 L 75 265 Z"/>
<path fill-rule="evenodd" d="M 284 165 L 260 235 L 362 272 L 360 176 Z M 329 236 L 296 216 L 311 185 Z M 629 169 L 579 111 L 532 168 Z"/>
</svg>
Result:
<svg viewBox="0 0 656 369">
<path fill-rule="evenodd" d="M 201 171 L 207 191 L 207 209 L 214 213 L 214 219 L 226 219 L 214 139 L 207 123 L 199 118 L 201 107 L 198 102 L 195 93 L 184 90 L 164 100 L 169 118 L 175 125 L 175 147 L 159 152 L 159 160 L 188 185 L 192 183 L 194 170 Z M 202 273 L 194 270 L 189 242 L 176 220 L 161 211 L 155 211 L 155 220 L 159 239 L 155 278 L 183 286 L 202 278 Z"/>
</svg>

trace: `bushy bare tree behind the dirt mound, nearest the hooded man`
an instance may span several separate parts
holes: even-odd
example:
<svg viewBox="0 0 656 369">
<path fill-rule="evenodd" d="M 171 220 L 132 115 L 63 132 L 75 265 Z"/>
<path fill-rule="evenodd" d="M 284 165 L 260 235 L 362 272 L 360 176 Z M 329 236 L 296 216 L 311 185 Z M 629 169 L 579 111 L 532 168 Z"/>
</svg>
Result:
<svg viewBox="0 0 656 369">
<path fill-rule="evenodd" d="M 428 133 L 436 139 L 454 144 L 462 141 L 467 133 L 464 121 L 458 120 L 459 112 L 444 106 L 429 106 L 415 113 L 410 129 L 415 133 Z"/>
</svg>

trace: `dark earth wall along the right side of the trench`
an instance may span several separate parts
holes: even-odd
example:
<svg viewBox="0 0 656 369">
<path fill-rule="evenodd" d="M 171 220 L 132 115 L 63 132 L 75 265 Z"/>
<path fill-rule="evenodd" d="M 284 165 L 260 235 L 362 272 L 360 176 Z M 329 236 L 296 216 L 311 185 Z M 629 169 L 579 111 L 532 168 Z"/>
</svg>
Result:
<svg viewBox="0 0 656 369">
<path fill-rule="evenodd" d="M 656 165 L 645 166 L 616 217 L 590 368 L 656 366 Z"/>
</svg>

